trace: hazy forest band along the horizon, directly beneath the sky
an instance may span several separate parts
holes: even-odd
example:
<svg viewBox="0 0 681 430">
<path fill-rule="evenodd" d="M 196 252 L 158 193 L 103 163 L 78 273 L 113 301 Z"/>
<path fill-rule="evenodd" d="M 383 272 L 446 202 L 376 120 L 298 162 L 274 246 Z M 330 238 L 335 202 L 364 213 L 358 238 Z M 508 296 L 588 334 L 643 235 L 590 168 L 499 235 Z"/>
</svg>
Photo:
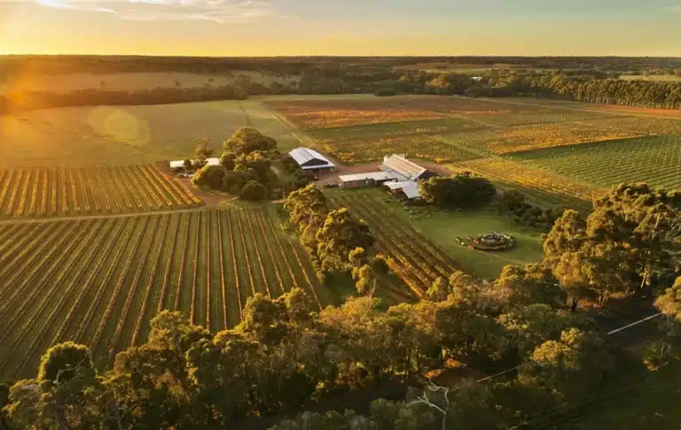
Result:
<svg viewBox="0 0 681 430">
<path fill-rule="evenodd" d="M 604 72 L 643 72 L 681 67 L 681 58 L 630 57 L 278 57 L 210 58 L 144 56 L 5 56 L 0 57 L 0 78 L 6 73 L 221 73 L 249 70 L 301 74 L 324 67 L 391 68 L 397 65 L 507 65 L 513 68 L 585 69 Z"/>
</svg>

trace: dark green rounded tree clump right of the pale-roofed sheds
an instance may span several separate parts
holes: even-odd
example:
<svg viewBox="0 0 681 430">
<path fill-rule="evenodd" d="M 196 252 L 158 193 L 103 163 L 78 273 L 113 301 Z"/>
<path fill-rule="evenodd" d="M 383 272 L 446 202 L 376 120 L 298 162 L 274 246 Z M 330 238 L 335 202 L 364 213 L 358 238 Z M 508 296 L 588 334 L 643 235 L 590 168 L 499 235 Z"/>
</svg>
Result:
<svg viewBox="0 0 681 430">
<path fill-rule="evenodd" d="M 450 177 L 434 176 L 420 183 L 421 198 L 448 208 L 476 208 L 490 203 L 497 194 L 489 180 L 463 172 Z"/>
</svg>

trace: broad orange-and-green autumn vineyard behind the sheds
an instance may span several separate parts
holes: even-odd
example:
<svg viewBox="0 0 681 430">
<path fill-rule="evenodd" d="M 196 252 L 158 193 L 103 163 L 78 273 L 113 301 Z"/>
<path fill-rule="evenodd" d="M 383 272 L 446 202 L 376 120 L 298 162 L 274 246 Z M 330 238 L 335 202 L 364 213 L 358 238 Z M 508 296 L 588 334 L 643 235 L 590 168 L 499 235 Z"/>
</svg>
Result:
<svg viewBox="0 0 681 430">
<path fill-rule="evenodd" d="M 391 152 L 456 162 L 469 159 L 461 155 L 466 148 L 486 157 L 681 127 L 675 119 L 456 96 L 288 98 L 266 104 L 344 163 L 375 161 Z"/>
</svg>

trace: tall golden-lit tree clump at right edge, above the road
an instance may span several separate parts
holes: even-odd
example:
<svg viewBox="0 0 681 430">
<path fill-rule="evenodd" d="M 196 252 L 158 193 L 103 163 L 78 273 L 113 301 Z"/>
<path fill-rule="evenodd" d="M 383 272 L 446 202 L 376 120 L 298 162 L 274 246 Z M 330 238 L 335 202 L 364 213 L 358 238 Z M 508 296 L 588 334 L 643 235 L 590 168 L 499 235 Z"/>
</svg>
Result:
<svg viewBox="0 0 681 430">
<path fill-rule="evenodd" d="M 594 202 L 587 219 L 565 211 L 547 234 L 544 265 L 573 296 L 602 305 L 609 296 L 673 273 L 681 248 L 681 197 L 646 184 L 621 185 Z"/>
</svg>

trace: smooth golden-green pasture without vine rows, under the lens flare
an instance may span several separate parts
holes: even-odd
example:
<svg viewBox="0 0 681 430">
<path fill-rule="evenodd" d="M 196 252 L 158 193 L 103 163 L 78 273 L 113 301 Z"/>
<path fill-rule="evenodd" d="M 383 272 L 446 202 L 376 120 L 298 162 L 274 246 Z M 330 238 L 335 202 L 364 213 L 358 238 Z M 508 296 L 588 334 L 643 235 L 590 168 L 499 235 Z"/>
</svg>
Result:
<svg viewBox="0 0 681 430">
<path fill-rule="evenodd" d="M 282 150 L 300 142 L 260 102 L 68 107 L 0 116 L 0 166 L 129 165 L 189 157 L 200 138 L 220 152 L 239 127 Z"/>
</svg>

